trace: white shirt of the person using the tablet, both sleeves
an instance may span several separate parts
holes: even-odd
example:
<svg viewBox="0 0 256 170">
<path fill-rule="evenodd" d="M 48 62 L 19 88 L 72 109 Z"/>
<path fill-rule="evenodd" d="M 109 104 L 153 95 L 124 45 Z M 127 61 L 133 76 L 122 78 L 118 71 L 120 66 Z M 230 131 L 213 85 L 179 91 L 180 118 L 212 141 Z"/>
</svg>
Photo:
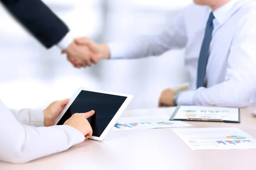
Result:
<svg viewBox="0 0 256 170">
<path fill-rule="evenodd" d="M 12 111 L 0 101 L 0 160 L 24 163 L 84 141 L 84 135 L 71 126 L 42 126 L 43 111 Z"/>
</svg>

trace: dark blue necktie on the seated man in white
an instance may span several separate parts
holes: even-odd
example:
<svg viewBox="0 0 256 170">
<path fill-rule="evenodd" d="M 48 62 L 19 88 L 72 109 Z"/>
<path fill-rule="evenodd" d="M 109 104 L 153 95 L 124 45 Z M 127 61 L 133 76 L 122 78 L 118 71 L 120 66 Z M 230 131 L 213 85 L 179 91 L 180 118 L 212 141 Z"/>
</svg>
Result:
<svg viewBox="0 0 256 170">
<path fill-rule="evenodd" d="M 198 60 L 197 88 L 204 86 L 204 77 L 205 77 L 205 72 L 206 72 L 207 60 L 208 60 L 208 56 L 209 56 L 209 47 L 210 47 L 210 42 L 212 40 L 212 30 L 213 30 L 212 20 L 214 18 L 215 17 L 213 15 L 213 13 L 211 12 L 209 19 L 207 21 L 207 26 L 206 26 L 205 34 L 204 34 L 204 41 L 203 41 L 203 44 L 201 47 L 199 60 Z"/>
</svg>

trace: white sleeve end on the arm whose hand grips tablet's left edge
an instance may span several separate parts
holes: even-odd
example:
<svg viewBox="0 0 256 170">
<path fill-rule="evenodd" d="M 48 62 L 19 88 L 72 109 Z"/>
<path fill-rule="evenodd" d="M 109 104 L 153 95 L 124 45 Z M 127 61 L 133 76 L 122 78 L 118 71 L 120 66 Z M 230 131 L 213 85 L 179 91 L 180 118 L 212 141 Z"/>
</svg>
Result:
<svg viewBox="0 0 256 170">
<path fill-rule="evenodd" d="M 33 109 L 22 109 L 20 111 L 10 109 L 15 118 L 25 125 L 35 127 L 44 126 L 44 112 Z"/>
</svg>

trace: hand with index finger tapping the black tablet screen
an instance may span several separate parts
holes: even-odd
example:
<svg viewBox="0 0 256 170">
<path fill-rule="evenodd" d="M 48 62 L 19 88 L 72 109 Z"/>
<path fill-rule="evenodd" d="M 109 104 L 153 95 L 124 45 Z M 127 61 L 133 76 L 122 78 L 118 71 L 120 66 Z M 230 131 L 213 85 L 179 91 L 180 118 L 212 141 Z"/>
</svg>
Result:
<svg viewBox="0 0 256 170">
<path fill-rule="evenodd" d="M 67 119 L 64 125 L 69 125 L 79 130 L 84 135 L 84 139 L 88 139 L 92 136 L 93 130 L 88 122 L 87 118 L 93 116 L 95 111 L 89 111 L 87 113 L 75 113 L 70 119 Z"/>
</svg>

